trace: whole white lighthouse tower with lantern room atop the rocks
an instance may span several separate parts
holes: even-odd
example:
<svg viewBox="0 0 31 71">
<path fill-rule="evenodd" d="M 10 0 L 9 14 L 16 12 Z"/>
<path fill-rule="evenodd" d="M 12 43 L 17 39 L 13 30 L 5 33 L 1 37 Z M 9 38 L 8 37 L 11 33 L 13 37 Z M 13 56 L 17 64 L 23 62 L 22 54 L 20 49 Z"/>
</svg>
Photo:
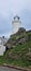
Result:
<svg viewBox="0 0 31 71">
<path fill-rule="evenodd" d="M 13 25 L 13 34 L 15 34 L 15 33 L 18 31 L 20 23 L 21 23 L 21 22 L 20 22 L 20 20 L 19 20 L 19 16 L 16 15 L 16 16 L 14 17 L 13 22 L 12 22 L 12 25 Z"/>
</svg>

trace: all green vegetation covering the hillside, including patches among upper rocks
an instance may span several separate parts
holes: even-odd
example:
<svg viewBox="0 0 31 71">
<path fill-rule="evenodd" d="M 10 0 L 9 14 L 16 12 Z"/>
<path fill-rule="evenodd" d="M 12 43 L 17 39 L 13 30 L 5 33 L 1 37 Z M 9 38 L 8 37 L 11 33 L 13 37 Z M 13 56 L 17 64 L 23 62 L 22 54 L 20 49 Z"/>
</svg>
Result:
<svg viewBox="0 0 31 71">
<path fill-rule="evenodd" d="M 27 54 L 31 52 L 31 33 L 18 35 L 18 37 L 28 36 L 28 40 L 24 44 L 15 45 L 15 48 L 9 49 L 3 57 L 0 57 L 0 64 L 7 63 L 20 67 L 31 66 L 31 57 Z M 16 40 L 16 35 L 12 37 Z"/>
</svg>

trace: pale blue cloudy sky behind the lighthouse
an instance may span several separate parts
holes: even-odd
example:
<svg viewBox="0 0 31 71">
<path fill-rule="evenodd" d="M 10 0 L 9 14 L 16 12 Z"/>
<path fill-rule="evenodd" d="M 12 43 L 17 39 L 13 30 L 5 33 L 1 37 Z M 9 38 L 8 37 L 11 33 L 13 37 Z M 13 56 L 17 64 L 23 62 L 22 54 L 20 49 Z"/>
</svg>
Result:
<svg viewBox="0 0 31 71">
<path fill-rule="evenodd" d="M 16 14 L 20 17 L 20 26 L 31 29 L 31 0 L 0 0 L 0 36 L 10 37 Z"/>
</svg>

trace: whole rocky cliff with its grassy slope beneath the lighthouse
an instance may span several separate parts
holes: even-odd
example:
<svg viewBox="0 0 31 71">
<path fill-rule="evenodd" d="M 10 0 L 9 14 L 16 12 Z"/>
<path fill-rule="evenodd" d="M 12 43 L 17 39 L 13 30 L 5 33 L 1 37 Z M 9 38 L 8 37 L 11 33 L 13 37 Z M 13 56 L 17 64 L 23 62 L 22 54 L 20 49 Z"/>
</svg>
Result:
<svg viewBox="0 0 31 71">
<path fill-rule="evenodd" d="M 5 44 L 5 61 L 20 67 L 31 66 L 31 31 L 20 27 Z"/>
</svg>

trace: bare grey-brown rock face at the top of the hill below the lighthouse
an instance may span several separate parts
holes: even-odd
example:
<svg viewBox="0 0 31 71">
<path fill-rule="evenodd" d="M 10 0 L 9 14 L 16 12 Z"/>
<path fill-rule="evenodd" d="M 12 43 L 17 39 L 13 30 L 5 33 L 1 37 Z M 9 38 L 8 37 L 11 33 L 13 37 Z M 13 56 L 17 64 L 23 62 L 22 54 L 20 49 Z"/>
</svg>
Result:
<svg viewBox="0 0 31 71">
<path fill-rule="evenodd" d="M 31 40 L 31 31 L 26 32 L 24 27 L 20 27 L 16 34 L 11 35 L 10 39 L 5 44 L 7 48 L 13 48 L 17 44 L 25 44 Z"/>
</svg>

